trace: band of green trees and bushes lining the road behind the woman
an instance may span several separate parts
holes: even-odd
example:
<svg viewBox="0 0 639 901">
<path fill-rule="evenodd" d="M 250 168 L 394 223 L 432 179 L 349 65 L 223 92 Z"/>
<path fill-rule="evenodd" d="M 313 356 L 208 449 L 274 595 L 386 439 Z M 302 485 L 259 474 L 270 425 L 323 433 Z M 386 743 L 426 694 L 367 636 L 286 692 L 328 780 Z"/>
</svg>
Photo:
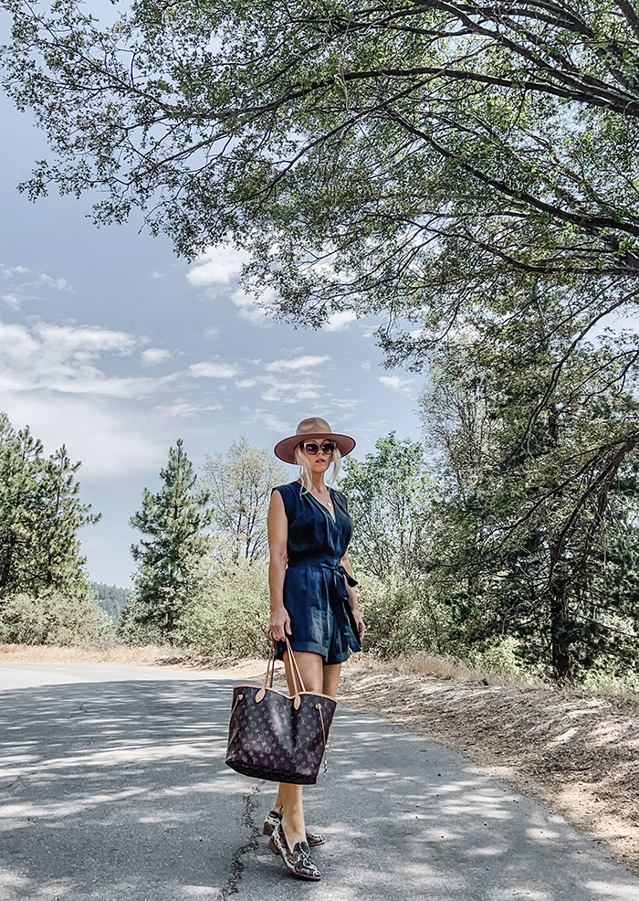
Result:
<svg viewBox="0 0 639 901">
<path fill-rule="evenodd" d="M 507 339 L 488 359 L 466 341 L 434 360 L 420 398 L 424 444 L 391 432 L 363 460 L 344 461 L 364 652 L 405 672 L 634 693 L 639 480 L 634 453 L 613 439 L 634 415 L 634 396 L 580 370 L 569 407 L 558 379 L 555 419 L 524 445 L 539 370 L 552 363 L 530 363 L 516 381 Z M 79 502 L 77 464 L 63 457 L 66 474 L 51 482 L 58 456 L 43 463 L 39 444 L 4 421 L 5 473 L 21 462 L 14 492 L 3 494 L 0 641 L 168 646 L 218 661 L 267 655 L 267 507 L 287 479 L 267 451 L 240 439 L 198 474 L 178 441 L 158 490 L 145 489 L 131 516 L 141 537 L 125 590 L 88 582 L 76 533 L 96 517 Z M 596 459 L 593 433 L 608 447 Z M 37 520 L 51 513 L 34 492 L 51 483 L 66 537 L 37 557 L 36 535 L 52 526 Z M 48 563 L 36 578 L 40 560 Z"/>
</svg>

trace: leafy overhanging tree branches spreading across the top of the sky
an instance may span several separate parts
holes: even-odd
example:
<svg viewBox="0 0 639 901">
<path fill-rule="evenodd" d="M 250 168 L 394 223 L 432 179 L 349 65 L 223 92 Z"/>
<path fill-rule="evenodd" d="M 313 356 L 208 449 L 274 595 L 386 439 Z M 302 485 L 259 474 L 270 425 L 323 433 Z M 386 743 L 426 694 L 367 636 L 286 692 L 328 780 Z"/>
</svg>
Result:
<svg viewBox="0 0 639 901">
<path fill-rule="evenodd" d="M 591 322 L 634 302 L 634 0 L 3 4 L 5 89 L 54 154 L 29 195 L 99 188 L 98 223 L 137 207 L 188 257 L 232 238 L 296 323 L 385 313 L 422 365 L 530 275 Z"/>
</svg>

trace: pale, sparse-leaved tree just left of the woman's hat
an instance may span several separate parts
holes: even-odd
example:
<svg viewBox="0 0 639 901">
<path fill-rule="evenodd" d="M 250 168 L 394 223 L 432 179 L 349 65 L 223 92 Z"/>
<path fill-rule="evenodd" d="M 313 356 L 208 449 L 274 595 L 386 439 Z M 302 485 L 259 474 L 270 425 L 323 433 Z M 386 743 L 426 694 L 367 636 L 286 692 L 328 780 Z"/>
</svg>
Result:
<svg viewBox="0 0 639 901">
<path fill-rule="evenodd" d="M 215 526 L 231 546 L 235 563 L 255 562 L 267 554 L 267 512 L 271 491 L 286 481 L 286 472 L 268 451 L 246 438 L 232 441 L 226 452 L 206 455 L 204 485 L 210 495 Z"/>
</svg>

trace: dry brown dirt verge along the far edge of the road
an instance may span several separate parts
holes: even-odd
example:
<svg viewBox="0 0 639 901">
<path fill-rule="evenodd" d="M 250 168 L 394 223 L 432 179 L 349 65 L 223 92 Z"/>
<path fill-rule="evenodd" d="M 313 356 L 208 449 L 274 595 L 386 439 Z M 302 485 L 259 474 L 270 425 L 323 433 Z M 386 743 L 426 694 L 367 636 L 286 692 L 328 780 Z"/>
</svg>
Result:
<svg viewBox="0 0 639 901">
<path fill-rule="evenodd" d="M 236 664 L 159 648 L 85 651 L 0 645 L 0 662 L 190 666 L 258 679 Z M 351 660 L 339 700 L 452 747 L 490 776 L 544 801 L 639 875 L 639 701 L 547 686 L 487 684 Z M 278 674 L 281 682 L 281 674 Z"/>
</svg>

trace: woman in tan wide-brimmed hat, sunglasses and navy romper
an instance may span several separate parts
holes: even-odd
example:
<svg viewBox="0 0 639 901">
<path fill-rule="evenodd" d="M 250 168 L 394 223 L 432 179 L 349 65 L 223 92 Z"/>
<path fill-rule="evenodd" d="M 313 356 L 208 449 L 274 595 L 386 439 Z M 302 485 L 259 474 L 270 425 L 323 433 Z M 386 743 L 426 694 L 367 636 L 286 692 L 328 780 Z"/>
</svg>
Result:
<svg viewBox="0 0 639 901">
<path fill-rule="evenodd" d="M 267 635 L 278 642 L 276 657 L 284 661 L 293 692 L 285 637 L 309 692 L 335 697 L 342 662 L 361 650 L 364 622 L 357 601 L 346 548 L 351 516 L 345 496 L 324 482 L 331 463 L 335 481 L 340 460 L 355 441 L 336 435 L 325 419 L 303 419 L 295 435 L 278 443 L 276 456 L 299 463 L 297 482 L 273 490 L 268 508 L 268 580 L 271 616 Z M 269 847 L 288 869 L 303 879 L 319 880 L 309 845 L 324 843 L 306 831 L 302 786 L 279 783 L 278 797 L 264 832 Z"/>
</svg>

